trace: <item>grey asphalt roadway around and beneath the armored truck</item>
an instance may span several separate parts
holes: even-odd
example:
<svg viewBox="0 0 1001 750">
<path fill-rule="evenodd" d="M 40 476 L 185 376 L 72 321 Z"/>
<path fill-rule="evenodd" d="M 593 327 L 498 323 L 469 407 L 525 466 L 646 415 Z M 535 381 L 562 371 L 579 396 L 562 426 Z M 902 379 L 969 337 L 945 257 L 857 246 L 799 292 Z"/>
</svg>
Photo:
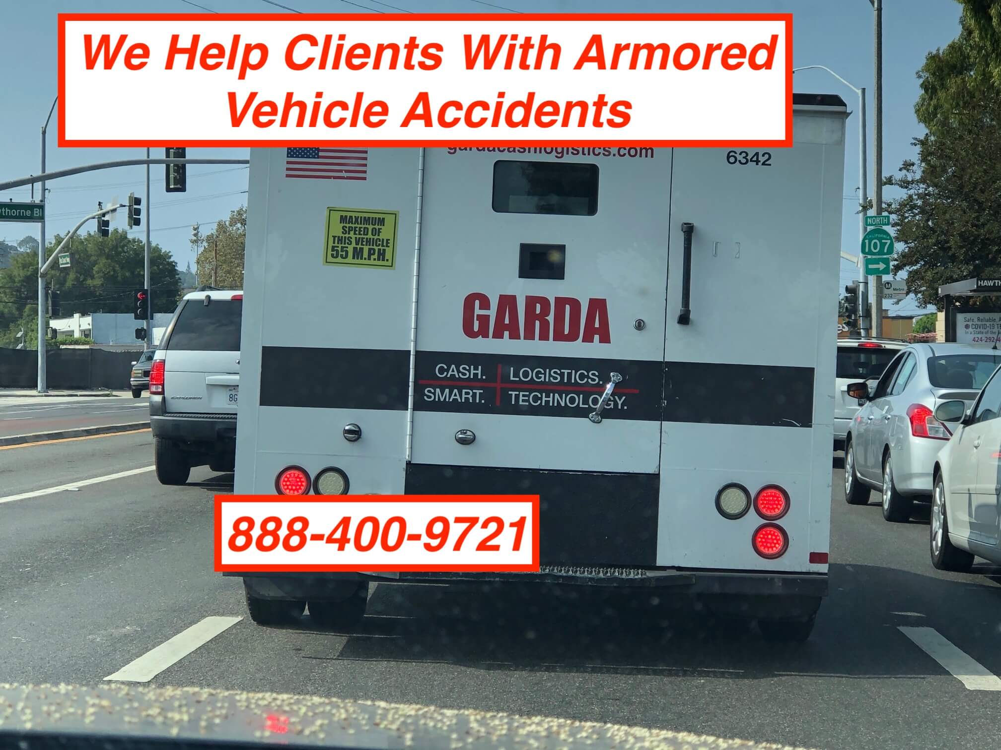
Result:
<svg viewBox="0 0 1001 750">
<path fill-rule="evenodd" d="M 848 506 L 833 470 L 831 596 L 806 644 L 687 605 L 577 589 L 379 584 L 351 633 L 267 629 L 211 572 L 211 498 L 161 487 L 149 433 L 0 449 L 0 682 L 94 684 L 206 617 L 243 617 L 157 685 L 328 695 L 624 723 L 812 747 L 997 745 L 971 690 L 899 627 L 1001 675 L 1001 570 L 935 571 L 926 521 Z M 124 476 L 74 483 L 127 472 Z M 64 487 L 60 491 L 22 493 Z M 218 622 L 218 621 L 214 621 Z"/>
</svg>

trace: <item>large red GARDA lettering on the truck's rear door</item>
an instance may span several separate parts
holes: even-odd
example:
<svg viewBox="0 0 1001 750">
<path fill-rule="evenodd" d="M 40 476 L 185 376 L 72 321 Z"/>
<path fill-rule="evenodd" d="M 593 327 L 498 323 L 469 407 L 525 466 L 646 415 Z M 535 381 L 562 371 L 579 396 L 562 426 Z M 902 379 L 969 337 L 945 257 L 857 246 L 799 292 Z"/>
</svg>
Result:
<svg viewBox="0 0 1001 750">
<path fill-rule="evenodd" d="M 602 297 L 587 303 L 575 297 L 539 297 L 519 302 L 518 295 L 497 295 L 496 304 L 482 292 L 465 295 L 462 333 L 470 339 L 524 339 L 526 341 L 581 341 L 608 344 L 609 301 Z"/>
</svg>

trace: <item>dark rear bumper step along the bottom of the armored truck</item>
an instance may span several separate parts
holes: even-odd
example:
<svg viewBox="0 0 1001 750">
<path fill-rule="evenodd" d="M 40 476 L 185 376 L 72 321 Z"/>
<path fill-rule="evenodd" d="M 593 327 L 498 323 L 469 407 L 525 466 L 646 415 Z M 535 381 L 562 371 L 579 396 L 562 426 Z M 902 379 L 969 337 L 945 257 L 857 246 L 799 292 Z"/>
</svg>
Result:
<svg viewBox="0 0 1001 750">
<path fill-rule="evenodd" d="M 429 584 L 511 583 L 614 586 L 670 590 L 678 595 L 827 596 L 826 573 L 749 573 L 670 568 L 632 571 L 629 576 L 568 573 L 543 566 L 541 573 L 224 573 L 242 576 L 248 590 L 261 599 L 341 598 L 345 582 Z M 582 569 L 588 570 L 588 569 Z M 595 569 L 591 569 L 595 570 Z M 642 575 L 638 575 L 642 574 Z"/>
</svg>

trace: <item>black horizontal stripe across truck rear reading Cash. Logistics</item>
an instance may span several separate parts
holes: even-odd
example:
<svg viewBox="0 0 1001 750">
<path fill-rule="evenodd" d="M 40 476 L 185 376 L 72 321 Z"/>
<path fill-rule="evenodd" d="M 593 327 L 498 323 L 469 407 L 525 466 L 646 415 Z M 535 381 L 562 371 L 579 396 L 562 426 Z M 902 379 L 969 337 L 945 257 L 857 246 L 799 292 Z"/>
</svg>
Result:
<svg viewBox="0 0 1001 750">
<path fill-rule="evenodd" d="M 260 405 L 405 410 L 409 357 L 396 349 L 265 346 Z M 606 419 L 813 426 L 812 367 L 729 362 L 418 351 L 413 406 L 587 419 L 612 372 L 623 381 Z"/>
</svg>

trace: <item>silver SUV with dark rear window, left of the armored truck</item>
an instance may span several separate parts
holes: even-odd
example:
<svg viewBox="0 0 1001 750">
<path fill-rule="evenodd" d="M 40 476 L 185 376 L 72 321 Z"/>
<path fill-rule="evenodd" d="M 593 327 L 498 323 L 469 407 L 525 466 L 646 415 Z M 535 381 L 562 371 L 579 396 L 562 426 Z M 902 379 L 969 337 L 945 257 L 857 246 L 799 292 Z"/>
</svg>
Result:
<svg viewBox="0 0 1001 750">
<path fill-rule="evenodd" d="M 184 484 L 192 466 L 232 471 L 240 382 L 243 293 L 184 295 L 149 373 L 156 478 Z"/>
</svg>

